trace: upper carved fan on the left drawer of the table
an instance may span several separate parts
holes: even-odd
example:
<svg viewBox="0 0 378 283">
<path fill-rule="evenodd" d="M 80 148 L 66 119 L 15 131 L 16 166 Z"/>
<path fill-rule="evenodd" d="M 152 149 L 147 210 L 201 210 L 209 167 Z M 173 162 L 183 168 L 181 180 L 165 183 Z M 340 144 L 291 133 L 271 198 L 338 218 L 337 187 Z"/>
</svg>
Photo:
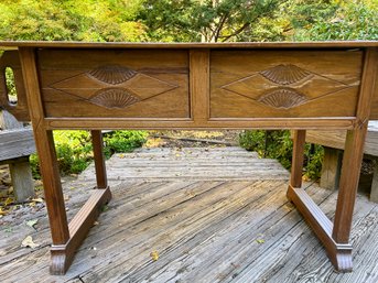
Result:
<svg viewBox="0 0 378 283">
<path fill-rule="evenodd" d="M 118 85 L 129 80 L 138 73 L 136 70 L 119 65 L 106 65 L 99 66 L 98 68 L 95 68 L 87 74 L 104 83 Z"/>
</svg>

